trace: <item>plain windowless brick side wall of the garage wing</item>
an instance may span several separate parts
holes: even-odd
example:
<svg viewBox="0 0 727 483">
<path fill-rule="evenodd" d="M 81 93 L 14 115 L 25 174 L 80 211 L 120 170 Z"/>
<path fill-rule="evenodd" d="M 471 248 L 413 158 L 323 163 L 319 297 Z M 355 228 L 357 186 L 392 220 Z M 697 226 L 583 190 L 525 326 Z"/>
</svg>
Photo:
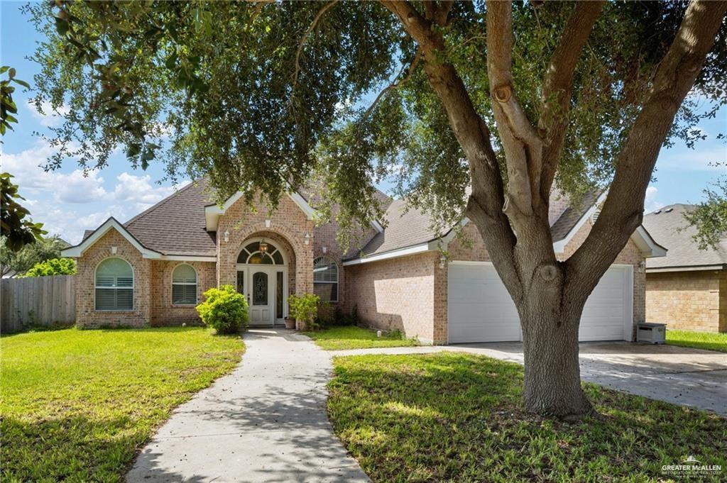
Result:
<svg viewBox="0 0 727 483">
<path fill-rule="evenodd" d="M 370 327 L 441 341 L 441 325 L 435 330 L 435 300 L 441 310 L 441 296 L 435 297 L 435 285 L 441 290 L 441 279 L 435 277 L 438 258 L 438 252 L 427 252 L 346 267 L 349 306 L 356 304 L 359 320 Z"/>
</svg>

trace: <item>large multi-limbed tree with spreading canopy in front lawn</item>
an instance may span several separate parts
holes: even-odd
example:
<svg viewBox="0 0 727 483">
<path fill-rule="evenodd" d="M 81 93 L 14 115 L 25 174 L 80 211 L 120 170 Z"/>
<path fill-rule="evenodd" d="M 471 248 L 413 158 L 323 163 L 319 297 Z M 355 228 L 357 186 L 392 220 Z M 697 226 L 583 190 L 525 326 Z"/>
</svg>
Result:
<svg viewBox="0 0 727 483">
<path fill-rule="evenodd" d="M 580 315 L 640 224 L 660 147 L 694 142 L 690 126 L 725 102 L 724 1 L 29 9 L 48 36 L 36 102 L 71 106 L 50 168 L 68 155 L 103 167 L 124 145 L 134 166 L 273 205 L 314 171 L 318 208 L 351 231 L 380 216 L 371 180 L 395 169 L 415 206 L 478 228 L 521 317 L 525 406 L 558 416 L 591 410 Z M 566 261 L 547 221 L 554 183 L 574 199 L 609 187 Z"/>
</svg>

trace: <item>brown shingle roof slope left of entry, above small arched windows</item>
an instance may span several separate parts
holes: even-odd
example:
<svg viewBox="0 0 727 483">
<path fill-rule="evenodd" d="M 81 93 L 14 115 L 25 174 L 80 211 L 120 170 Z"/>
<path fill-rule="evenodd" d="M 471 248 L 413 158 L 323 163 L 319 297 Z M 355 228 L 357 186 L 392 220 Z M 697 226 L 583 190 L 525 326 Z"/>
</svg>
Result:
<svg viewBox="0 0 727 483">
<path fill-rule="evenodd" d="M 215 234 L 205 230 L 204 206 L 212 202 L 206 179 L 192 182 L 124 223 L 151 250 L 164 255 L 214 256 Z"/>
</svg>

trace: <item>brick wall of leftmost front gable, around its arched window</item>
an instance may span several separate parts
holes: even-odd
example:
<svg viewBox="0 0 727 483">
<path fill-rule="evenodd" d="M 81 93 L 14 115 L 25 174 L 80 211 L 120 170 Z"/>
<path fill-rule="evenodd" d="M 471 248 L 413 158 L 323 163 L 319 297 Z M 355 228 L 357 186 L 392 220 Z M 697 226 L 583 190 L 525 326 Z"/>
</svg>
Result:
<svg viewBox="0 0 727 483">
<path fill-rule="evenodd" d="M 116 254 L 111 247 L 116 246 Z M 101 261 L 116 257 L 124 259 L 134 269 L 134 309 L 124 311 L 97 311 L 96 267 Z M 78 259 L 76 272 L 76 325 L 81 328 L 100 326 L 147 325 L 151 317 L 150 301 L 151 262 L 142 258 L 134 245 L 116 230 L 109 230 Z"/>
</svg>

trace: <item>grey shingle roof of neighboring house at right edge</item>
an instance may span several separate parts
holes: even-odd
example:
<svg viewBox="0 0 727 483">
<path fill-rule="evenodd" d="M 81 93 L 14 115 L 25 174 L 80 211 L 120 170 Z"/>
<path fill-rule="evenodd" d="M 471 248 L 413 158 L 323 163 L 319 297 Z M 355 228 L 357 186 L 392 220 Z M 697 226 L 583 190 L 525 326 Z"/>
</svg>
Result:
<svg viewBox="0 0 727 483">
<path fill-rule="evenodd" d="M 668 250 L 667 256 L 647 259 L 647 269 L 727 264 L 727 240 L 720 242 L 716 250 L 699 250 L 692 239 L 696 228 L 691 227 L 683 215 L 693 209 L 694 205 L 678 203 L 644 215 L 643 226 L 656 243 Z"/>
</svg>

